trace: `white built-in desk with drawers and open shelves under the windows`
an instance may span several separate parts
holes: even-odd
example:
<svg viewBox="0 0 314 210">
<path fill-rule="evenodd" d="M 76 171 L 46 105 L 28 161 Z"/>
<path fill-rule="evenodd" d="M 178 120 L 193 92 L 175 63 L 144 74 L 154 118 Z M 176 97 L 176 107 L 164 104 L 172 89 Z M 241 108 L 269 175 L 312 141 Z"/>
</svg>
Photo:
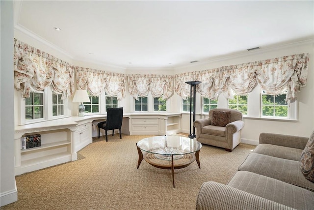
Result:
<svg viewBox="0 0 314 210">
<path fill-rule="evenodd" d="M 77 160 L 78 150 L 92 143 L 93 121 L 105 118 L 106 115 L 89 115 L 15 126 L 15 175 Z M 123 118 L 121 131 L 128 135 L 170 135 L 181 131 L 181 113 L 127 113 Z M 21 150 L 21 137 L 33 134 L 41 135 L 41 146 Z"/>
</svg>

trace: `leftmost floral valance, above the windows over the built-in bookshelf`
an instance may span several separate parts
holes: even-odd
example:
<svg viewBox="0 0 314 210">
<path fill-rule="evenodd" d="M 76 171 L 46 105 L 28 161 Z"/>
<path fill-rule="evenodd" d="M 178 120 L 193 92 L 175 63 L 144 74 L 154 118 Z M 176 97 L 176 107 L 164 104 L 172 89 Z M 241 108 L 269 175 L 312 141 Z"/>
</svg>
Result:
<svg viewBox="0 0 314 210">
<path fill-rule="evenodd" d="M 14 86 L 29 97 L 31 90 L 44 90 L 52 85 L 62 98 L 74 91 L 73 66 L 45 52 L 14 39 Z"/>
</svg>

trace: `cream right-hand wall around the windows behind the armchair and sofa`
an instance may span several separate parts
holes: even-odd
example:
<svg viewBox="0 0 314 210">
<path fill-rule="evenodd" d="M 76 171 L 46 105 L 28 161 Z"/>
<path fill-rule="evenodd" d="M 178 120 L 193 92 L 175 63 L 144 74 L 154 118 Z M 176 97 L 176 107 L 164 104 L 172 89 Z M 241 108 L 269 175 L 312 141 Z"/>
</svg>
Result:
<svg viewBox="0 0 314 210">
<path fill-rule="evenodd" d="M 175 73 L 200 71 L 212 69 L 221 66 L 240 64 L 250 61 L 272 59 L 293 54 L 309 53 L 310 65 L 308 81 L 306 87 L 298 94 L 298 121 L 278 121 L 278 120 L 256 120 L 246 118 L 242 130 L 242 142 L 258 142 L 259 135 L 262 132 L 281 133 L 289 135 L 300 135 L 309 137 L 314 128 L 314 42 L 313 38 L 296 43 L 283 44 L 276 47 L 265 47 L 258 51 L 242 53 L 242 55 L 226 56 L 216 60 L 208 60 L 193 66 L 185 66 L 175 69 Z M 220 96 L 222 97 L 222 96 Z M 218 99 L 219 100 L 219 99 Z M 200 113 L 200 104 L 196 103 L 196 113 Z M 260 102 L 256 102 L 260 106 Z M 221 107 L 223 108 L 223 107 Z M 196 119 L 204 118 L 203 115 L 197 115 Z M 183 115 L 183 130 L 189 129 L 189 116 Z"/>
</svg>

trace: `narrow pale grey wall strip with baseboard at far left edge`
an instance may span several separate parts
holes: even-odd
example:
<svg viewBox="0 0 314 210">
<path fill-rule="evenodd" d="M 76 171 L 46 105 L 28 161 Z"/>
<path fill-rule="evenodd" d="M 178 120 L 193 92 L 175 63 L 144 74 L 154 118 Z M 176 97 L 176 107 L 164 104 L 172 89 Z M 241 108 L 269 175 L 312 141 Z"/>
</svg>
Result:
<svg viewBox="0 0 314 210">
<path fill-rule="evenodd" d="M 13 1 L 0 1 L 0 206 L 17 201 L 14 176 Z"/>
</svg>

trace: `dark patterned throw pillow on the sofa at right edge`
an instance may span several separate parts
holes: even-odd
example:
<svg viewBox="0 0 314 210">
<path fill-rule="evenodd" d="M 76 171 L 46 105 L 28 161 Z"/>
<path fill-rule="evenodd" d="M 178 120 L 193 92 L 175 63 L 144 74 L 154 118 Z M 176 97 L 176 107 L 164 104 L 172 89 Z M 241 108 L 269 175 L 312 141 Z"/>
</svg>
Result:
<svg viewBox="0 0 314 210">
<path fill-rule="evenodd" d="M 300 161 L 304 177 L 314 182 L 314 132 L 302 151 Z"/>
</svg>

